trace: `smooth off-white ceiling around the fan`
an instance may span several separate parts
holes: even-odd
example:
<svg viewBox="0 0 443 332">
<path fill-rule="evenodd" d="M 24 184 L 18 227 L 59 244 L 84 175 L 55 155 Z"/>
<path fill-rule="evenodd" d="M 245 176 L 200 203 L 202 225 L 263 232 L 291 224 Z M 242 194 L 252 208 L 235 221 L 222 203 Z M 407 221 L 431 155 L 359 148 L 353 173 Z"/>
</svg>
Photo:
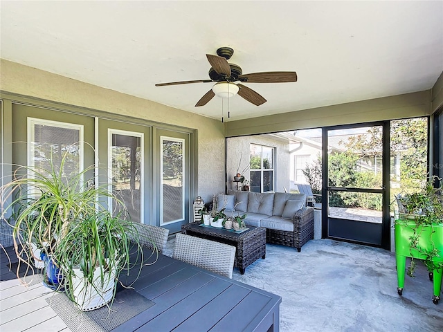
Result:
<svg viewBox="0 0 443 332">
<path fill-rule="evenodd" d="M 443 1 L 1 1 L 0 56 L 219 119 L 206 53 L 235 50 L 243 73 L 296 71 L 298 82 L 245 84 L 229 120 L 431 89 L 443 71 Z M 226 117 L 226 113 L 225 113 Z M 225 120 L 227 120 L 225 118 Z"/>
</svg>

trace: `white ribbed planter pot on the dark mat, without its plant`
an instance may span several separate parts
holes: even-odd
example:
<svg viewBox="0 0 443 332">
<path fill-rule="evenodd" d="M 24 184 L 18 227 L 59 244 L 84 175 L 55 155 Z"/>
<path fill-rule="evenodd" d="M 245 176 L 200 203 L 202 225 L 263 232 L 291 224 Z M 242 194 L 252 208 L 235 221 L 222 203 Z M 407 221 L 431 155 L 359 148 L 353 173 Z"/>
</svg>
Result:
<svg viewBox="0 0 443 332">
<path fill-rule="evenodd" d="M 84 279 L 80 268 L 74 268 L 75 276 L 72 277 L 73 295 L 75 303 L 81 311 L 91 311 L 105 306 L 114 295 L 116 284 L 116 270 L 104 273 L 100 277 L 100 267 L 94 271 L 93 285 Z"/>
</svg>

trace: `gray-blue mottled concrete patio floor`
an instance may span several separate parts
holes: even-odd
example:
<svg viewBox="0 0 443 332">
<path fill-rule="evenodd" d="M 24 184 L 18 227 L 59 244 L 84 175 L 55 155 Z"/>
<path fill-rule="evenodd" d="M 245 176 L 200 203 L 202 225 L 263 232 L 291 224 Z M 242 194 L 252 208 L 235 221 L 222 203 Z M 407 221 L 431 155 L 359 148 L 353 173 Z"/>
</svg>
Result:
<svg viewBox="0 0 443 332">
<path fill-rule="evenodd" d="M 174 234 L 165 255 L 172 255 Z M 443 331 L 443 300 L 432 302 L 433 285 L 417 263 L 397 294 L 395 254 L 329 239 L 296 249 L 266 245 L 259 259 L 233 279 L 282 297 L 280 331 Z M 233 330 L 235 328 L 233 327 Z"/>
</svg>

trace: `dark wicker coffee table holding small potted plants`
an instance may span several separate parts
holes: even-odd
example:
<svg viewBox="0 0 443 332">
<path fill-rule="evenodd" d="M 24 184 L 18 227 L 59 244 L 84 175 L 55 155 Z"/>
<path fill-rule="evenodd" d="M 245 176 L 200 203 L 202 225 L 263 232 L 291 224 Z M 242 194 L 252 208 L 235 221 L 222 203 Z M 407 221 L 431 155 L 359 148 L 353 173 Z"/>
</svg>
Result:
<svg viewBox="0 0 443 332">
<path fill-rule="evenodd" d="M 242 233 L 228 232 L 223 228 L 200 226 L 200 222 L 188 223 L 181 226 L 183 234 L 221 243 L 230 244 L 237 248 L 234 266 L 244 274 L 247 266 L 262 257 L 266 257 L 266 228 L 247 226 L 249 229 Z"/>
</svg>

